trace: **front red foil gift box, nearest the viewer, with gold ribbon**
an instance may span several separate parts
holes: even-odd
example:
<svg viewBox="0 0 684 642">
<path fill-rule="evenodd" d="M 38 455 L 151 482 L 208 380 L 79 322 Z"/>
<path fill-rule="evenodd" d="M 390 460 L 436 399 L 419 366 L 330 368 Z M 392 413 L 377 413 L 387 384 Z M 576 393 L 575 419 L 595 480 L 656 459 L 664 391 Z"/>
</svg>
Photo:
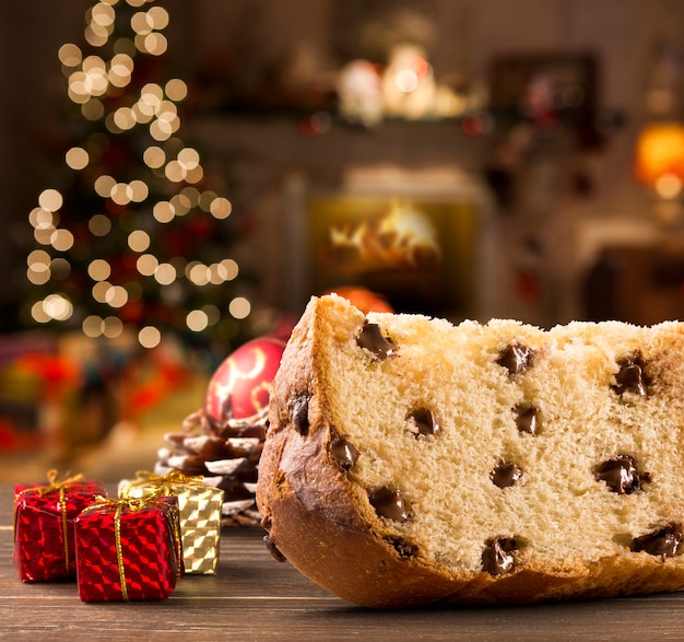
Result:
<svg viewBox="0 0 684 642">
<path fill-rule="evenodd" d="M 107 499 L 75 522 L 83 602 L 164 599 L 184 573 L 176 497 Z"/>
</svg>

